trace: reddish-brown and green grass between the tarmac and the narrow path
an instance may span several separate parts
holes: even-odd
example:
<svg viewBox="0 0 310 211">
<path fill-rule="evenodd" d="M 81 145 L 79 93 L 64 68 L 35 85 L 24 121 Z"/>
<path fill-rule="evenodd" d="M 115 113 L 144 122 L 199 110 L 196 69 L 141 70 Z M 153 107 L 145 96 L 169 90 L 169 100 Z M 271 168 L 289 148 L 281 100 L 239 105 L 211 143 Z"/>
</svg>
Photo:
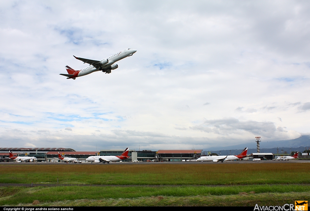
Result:
<svg viewBox="0 0 310 211">
<path fill-rule="evenodd" d="M 310 183 L 310 163 L 0 165 L 0 183 L 237 185 Z"/>
</svg>

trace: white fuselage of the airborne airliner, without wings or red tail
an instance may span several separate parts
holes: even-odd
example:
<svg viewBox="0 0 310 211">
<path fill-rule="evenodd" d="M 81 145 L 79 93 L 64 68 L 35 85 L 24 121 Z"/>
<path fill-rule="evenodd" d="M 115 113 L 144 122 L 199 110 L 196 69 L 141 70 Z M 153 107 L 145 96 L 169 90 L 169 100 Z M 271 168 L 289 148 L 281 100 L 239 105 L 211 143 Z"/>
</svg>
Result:
<svg viewBox="0 0 310 211">
<path fill-rule="evenodd" d="M 126 49 L 126 50 L 122 50 L 121 52 L 118 52 L 117 54 L 113 54 L 110 57 L 107 57 L 105 59 L 108 59 L 108 63 L 106 63 L 105 65 L 101 66 L 102 68 L 106 68 L 109 67 L 111 65 L 113 65 L 115 62 L 126 58 L 127 56 L 130 56 L 132 54 L 134 54 L 136 52 L 136 50 L 134 49 Z M 84 69 L 82 69 L 79 73 L 78 73 L 78 77 L 79 76 L 83 76 L 83 75 L 88 75 L 91 74 L 93 72 L 99 71 L 98 68 L 95 68 L 93 65 L 90 65 Z"/>
</svg>

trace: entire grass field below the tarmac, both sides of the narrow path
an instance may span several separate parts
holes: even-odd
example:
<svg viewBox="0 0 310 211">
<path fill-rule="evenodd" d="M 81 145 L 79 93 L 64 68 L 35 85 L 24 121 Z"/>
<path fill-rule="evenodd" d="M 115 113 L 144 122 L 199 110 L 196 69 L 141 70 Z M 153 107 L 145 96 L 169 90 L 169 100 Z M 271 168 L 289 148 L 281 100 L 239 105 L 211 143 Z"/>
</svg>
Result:
<svg viewBox="0 0 310 211">
<path fill-rule="evenodd" d="M 0 165 L 0 205 L 254 206 L 310 201 L 310 164 Z M 160 185 L 85 187 L 74 184 Z M 241 185 L 242 184 L 242 185 Z M 260 185 L 259 185 L 260 184 Z M 169 186 L 180 185 L 180 186 Z M 198 185 L 198 186 L 195 186 Z M 202 185 L 202 186 L 199 186 Z M 203 186 L 228 185 L 228 186 Z"/>
</svg>

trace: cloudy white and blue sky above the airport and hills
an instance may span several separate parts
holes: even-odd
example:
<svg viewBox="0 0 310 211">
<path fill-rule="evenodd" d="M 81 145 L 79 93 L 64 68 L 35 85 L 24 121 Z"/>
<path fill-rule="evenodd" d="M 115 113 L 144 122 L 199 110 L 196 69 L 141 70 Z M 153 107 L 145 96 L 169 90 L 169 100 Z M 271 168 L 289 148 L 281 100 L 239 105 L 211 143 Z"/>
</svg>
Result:
<svg viewBox="0 0 310 211">
<path fill-rule="evenodd" d="M 308 1 L 1 1 L 0 147 L 204 149 L 310 132 Z M 111 74 L 59 75 L 126 48 Z M 245 146 L 246 147 L 246 146 Z"/>
</svg>

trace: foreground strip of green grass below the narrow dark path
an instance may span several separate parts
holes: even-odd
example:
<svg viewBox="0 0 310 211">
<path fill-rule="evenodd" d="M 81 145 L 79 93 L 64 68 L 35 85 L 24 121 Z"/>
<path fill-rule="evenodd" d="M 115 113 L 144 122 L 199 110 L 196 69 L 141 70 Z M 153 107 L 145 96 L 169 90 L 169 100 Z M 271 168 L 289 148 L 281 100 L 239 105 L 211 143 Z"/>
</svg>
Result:
<svg viewBox="0 0 310 211">
<path fill-rule="evenodd" d="M 247 185 L 234 187 L 0 187 L 0 205 L 40 206 L 254 206 L 309 200 L 302 185 Z M 255 192 L 255 193 L 254 193 Z M 241 193 L 241 194 L 240 194 Z M 281 203 L 279 205 L 281 205 Z"/>
</svg>

